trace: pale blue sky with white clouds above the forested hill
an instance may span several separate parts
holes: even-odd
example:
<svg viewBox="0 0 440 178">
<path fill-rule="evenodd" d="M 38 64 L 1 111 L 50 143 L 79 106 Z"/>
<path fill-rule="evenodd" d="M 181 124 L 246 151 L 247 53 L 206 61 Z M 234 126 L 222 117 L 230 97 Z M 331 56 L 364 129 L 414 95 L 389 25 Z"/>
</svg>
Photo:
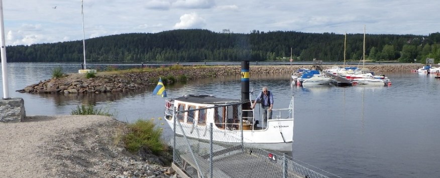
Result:
<svg viewBox="0 0 440 178">
<path fill-rule="evenodd" d="M 16 46 L 175 29 L 363 34 L 365 26 L 367 34 L 429 35 L 440 31 L 439 7 L 438 0 L 3 0 L 3 16 L 6 45 Z"/>
</svg>

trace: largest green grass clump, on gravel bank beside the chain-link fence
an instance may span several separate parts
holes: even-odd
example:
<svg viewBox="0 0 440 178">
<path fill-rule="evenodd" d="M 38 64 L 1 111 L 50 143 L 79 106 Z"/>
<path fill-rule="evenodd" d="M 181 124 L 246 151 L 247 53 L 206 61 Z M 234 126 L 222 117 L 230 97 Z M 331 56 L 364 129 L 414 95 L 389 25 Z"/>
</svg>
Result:
<svg viewBox="0 0 440 178">
<path fill-rule="evenodd" d="M 155 127 L 153 120 L 137 120 L 128 124 L 129 131 L 124 137 L 127 150 L 136 153 L 143 148 L 154 154 L 161 154 L 168 148 L 162 142 L 162 129 Z"/>
</svg>

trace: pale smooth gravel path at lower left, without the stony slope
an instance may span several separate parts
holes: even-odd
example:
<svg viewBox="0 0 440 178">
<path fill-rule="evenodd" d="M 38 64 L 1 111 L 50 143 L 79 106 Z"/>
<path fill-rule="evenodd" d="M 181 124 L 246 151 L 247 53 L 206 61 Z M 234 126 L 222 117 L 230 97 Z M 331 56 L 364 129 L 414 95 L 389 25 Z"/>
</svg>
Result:
<svg viewBox="0 0 440 178">
<path fill-rule="evenodd" d="M 81 138 L 81 135 L 72 133 L 87 129 L 108 130 L 116 124 L 118 121 L 111 117 L 96 115 L 28 116 L 23 122 L 0 123 L 0 176 L 48 177 L 59 175 L 62 173 L 60 166 L 65 166 L 63 165 L 65 163 L 61 162 L 59 158 L 63 155 L 69 156 L 69 152 L 73 152 L 72 149 L 74 149 L 71 145 L 75 143 L 62 142 L 63 144 L 59 144 L 60 142 L 57 140 L 73 136 L 92 145 L 94 140 L 87 141 L 86 139 L 93 138 Z M 95 137 L 99 137 L 99 135 L 95 135 Z M 53 156 L 58 158 L 54 160 Z"/>
</svg>

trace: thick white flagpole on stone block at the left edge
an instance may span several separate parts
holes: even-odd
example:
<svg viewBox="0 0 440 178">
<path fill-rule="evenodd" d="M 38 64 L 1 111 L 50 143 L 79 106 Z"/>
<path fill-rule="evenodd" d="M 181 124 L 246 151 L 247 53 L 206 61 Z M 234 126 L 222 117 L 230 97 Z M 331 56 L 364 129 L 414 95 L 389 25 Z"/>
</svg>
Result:
<svg viewBox="0 0 440 178">
<path fill-rule="evenodd" d="M 9 98 L 9 87 L 8 87 L 8 68 L 6 65 L 6 45 L 5 45 L 5 27 L 3 23 L 3 1 L 0 0 L 0 47 L 2 52 L 2 77 L 3 77 L 3 99 Z"/>
</svg>

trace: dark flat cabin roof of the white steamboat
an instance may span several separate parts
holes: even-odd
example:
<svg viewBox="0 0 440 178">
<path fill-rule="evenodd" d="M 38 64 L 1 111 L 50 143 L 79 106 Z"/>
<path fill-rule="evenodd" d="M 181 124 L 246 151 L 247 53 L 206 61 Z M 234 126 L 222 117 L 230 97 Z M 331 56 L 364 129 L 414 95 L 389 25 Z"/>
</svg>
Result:
<svg viewBox="0 0 440 178">
<path fill-rule="evenodd" d="M 230 104 L 241 102 L 239 99 L 216 98 L 212 95 L 184 95 L 174 100 L 197 104 Z"/>
</svg>

